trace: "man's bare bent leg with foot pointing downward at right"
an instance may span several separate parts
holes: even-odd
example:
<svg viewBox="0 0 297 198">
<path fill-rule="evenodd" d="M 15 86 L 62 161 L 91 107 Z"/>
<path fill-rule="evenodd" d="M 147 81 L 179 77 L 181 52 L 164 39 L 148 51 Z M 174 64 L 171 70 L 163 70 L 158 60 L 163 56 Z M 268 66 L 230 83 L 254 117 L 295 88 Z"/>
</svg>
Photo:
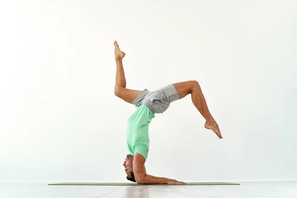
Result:
<svg viewBox="0 0 297 198">
<path fill-rule="evenodd" d="M 180 99 L 184 98 L 188 94 L 191 94 L 193 104 L 196 106 L 201 115 L 205 118 L 206 122 L 204 127 L 211 129 L 220 139 L 222 135 L 218 124 L 210 114 L 205 98 L 202 94 L 201 88 L 197 81 L 187 81 L 173 84 L 176 91 L 179 94 Z"/>
</svg>

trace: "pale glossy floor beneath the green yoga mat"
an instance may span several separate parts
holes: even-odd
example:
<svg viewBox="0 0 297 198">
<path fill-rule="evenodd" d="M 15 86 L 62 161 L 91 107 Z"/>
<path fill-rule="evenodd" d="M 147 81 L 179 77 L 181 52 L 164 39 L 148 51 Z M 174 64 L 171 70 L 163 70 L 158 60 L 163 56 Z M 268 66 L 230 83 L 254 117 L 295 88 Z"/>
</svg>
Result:
<svg viewBox="0 0 297 198">
<path fill-rule="evenodd" d="M 0 198 L 297 198 L 297 181 L 234 186 L 48 186 L 0 182 Z"/>
</svg>

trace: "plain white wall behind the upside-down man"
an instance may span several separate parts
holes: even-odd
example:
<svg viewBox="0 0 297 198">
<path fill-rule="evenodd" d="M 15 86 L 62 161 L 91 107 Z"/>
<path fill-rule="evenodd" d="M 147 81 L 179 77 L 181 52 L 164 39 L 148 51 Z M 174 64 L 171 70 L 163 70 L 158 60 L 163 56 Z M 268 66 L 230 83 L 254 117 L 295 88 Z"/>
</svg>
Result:
<svg viewBox="0 0 297 198">
<path fill-rule="evenodd" d="M 297 1 L 10 0 L 0 3 L 0 180 L 125 182 L 127 88 L 197 80 L 150 125 L 149 174 L 182 181 L 297 179 Z"/>
</svg>

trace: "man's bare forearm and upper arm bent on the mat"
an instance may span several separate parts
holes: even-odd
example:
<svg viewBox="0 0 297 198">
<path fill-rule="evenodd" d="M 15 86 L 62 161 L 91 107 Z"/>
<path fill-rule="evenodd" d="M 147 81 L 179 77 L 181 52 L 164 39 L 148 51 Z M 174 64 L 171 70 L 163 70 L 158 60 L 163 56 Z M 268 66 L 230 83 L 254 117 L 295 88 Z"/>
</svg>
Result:
<svg viewBox="0 0 297 198">
<path fill-rule="evenodd" d="M 145 168 L 146 159 L 139 153 L 135 153 L 133 159 L 133 172 L 137 184 L 186 184 L 165 177 L 148 175 Z"/>
</svg>

